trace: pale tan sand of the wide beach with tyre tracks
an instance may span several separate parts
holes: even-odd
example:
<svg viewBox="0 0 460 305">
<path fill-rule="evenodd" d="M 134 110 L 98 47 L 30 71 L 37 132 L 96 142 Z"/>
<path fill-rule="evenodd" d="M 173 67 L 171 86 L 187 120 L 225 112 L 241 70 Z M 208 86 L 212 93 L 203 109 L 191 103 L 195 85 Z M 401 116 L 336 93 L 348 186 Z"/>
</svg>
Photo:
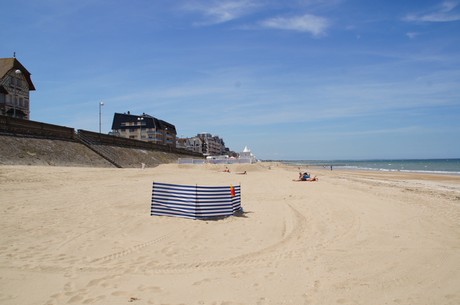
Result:
<svg viewBox="0 0 460 305">
<path fill-rule="evenodd" d="M 460 304 L 459 176 L 223 168 L 1 166 L 0 304 Z M 153 181 L 245 213 L 152 217 Z"/>
</svg>

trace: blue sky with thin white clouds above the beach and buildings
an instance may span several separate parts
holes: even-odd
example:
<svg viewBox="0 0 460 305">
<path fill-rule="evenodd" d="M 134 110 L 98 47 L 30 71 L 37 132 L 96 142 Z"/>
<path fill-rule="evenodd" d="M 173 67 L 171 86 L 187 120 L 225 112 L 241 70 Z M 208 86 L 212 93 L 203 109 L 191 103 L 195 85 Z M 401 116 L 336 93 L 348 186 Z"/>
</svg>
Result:
<svg viewBox="0 0 460 305">
<path fill-rule="evenodd" d="M 143 112 L 261 159 L 460 157 L 460 1 L 3 1 L 31 119 Z"/>
</svg>

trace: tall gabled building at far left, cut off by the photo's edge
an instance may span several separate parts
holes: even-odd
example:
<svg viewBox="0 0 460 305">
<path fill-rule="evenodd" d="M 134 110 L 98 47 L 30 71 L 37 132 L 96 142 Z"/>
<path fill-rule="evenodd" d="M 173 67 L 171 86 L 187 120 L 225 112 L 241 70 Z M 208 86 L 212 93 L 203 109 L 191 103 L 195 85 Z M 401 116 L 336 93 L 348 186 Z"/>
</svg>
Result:
<svg viewBox="0 0 460 305">
<path fill-rule="evenodd" d="M 29 92 L 35 87 L 30 73 L 13 58 L 0 58 L 0 114 L 30 119 Z"/>
</svg>

